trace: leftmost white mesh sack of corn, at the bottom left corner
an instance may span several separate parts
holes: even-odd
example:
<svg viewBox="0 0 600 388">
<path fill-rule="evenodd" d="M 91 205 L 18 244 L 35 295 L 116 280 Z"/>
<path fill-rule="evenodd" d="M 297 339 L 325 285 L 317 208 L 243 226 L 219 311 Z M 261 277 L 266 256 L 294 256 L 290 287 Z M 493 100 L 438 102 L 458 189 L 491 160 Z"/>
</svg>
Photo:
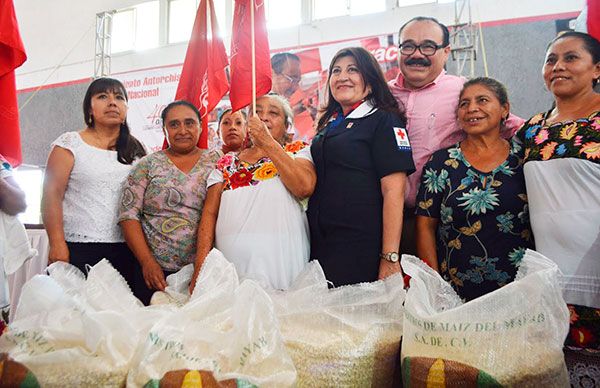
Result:
<svg viewBox="0 0 600 388">
<path fill-rule="evenodd" d="M 143 329 L 141 302 L 106 260 L 87 279 L 66 263 L 48 270 L 24 285 L 0 352 L 43 387 L 123 386 Z"/>
</svg>

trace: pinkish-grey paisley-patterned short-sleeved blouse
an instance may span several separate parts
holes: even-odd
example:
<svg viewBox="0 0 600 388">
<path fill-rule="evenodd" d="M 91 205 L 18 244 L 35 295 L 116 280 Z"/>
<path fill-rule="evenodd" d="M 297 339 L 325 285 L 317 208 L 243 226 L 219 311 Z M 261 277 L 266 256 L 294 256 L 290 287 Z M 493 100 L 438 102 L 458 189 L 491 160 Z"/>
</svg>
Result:
<svg viewBox="0 0 600 388">
<path fill-rule="evenodd" d="M 140 160 L 124 183 L 119 222 L 138 220 L 160 266 L 177 271 L 194 261 L 206 179 L 219 159 L 203 154 L 184 174 L 158 151 Z"/>
</svg>

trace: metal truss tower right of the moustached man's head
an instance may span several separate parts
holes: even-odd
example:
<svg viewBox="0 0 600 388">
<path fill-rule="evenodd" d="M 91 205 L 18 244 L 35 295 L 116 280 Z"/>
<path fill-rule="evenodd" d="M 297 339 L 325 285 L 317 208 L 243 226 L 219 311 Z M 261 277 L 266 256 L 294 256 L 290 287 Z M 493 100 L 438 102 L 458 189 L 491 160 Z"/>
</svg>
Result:
<svg viewBox="0 0 600 388">
<path fill-rule="evenodd" d="M 479 34 L 471 21 L 471 1 L 456 0 L 454 2 L 454 26 L 450 32 L 452 60 L 456 61 L 456 74 L 467 78 L 475 77 L 475 61 Z M 469 64 L 469 72 L 465 67 Z"/>
</svg>

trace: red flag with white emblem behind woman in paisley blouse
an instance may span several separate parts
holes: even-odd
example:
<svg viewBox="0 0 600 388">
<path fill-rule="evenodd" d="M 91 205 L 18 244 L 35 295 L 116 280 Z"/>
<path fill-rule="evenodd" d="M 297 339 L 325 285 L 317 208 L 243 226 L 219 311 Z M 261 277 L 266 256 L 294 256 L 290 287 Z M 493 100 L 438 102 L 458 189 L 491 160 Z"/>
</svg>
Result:
<svg viewBox="0 0 600 388">
<path fill-rule="evenodd" d="M 207 8 L 210 9 L 208 20 Z M 200 148 L 208 148 L 208 113 L 217 106 L 229 90 L 225 73 L 228 64 L 225 45 L 219 35 L 213 0 L 202 0 L 185 54 L 177 93 L 175 93 L 176 100 L 189 101 L 200 111 L 202 117 L 202 133 L 198 141 Z"/>
</svg>

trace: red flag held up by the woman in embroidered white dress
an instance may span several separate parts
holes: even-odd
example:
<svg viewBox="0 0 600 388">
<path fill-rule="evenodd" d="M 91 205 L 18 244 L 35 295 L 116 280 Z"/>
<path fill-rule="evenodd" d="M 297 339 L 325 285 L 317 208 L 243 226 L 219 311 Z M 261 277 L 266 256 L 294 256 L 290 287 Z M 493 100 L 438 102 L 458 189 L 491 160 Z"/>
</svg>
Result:
<svg viewBox="0 0 600 388">
<path fill-rule="evenodd" d="M 264 0 L 235 0 L 231 37 L 231 108 L 236 111 L 252 103 L 252 30 L 250 7 L 254 6 L 254 52 L 256 96 L 271 90 L 271 56 Z"/>
</svg>

